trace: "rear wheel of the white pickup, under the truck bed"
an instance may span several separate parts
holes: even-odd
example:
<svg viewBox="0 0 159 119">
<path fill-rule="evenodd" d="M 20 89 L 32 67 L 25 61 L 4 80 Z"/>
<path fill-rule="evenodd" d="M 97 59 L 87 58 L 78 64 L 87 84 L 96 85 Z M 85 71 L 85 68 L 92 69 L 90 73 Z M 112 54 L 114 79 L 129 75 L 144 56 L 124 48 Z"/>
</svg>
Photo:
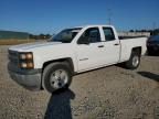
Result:
<svg viewBox="0 0 159 119">
<path fill-rule="evenodd" d="M 126 68 L 136 69 L 140 64 L 140 52 L 138 50 L 132 51 L 129 61 L 125 63 Z"/>
</svg>

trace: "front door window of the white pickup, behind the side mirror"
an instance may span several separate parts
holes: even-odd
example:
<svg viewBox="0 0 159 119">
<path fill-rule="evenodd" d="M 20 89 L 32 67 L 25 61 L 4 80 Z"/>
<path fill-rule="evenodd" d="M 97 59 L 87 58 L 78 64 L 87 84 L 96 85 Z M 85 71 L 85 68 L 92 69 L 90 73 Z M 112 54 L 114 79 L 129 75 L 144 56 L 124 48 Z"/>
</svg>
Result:
<svg viewBox="0 0 159 119">
<path fill-rule="evenodd" d="M 99 33 L 98 28 L 87 29 L 82 34 L 82 36 L 80 37 L 80 40 L 87 40 L 87 41 L 89 41 L 89 43 L 100 42 L 100 33 Z"/>
</svg>

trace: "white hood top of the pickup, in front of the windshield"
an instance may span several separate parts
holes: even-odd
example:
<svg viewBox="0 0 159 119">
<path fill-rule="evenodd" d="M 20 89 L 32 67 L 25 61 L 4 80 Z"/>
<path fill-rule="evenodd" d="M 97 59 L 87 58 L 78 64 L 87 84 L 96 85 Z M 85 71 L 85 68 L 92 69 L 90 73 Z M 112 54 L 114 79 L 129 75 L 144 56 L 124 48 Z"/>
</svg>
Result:
<svg viewBox="0 0 159 119">
<path fill-rule="evenodd" d="M 55 44 L 61 44 L 61 42 L 34 42 L 34 43 L 25 43 L 25 44 L 20 44 L 20 45 L 11 46 L 11 47 L 9 47 L 9 50 L 12 50 L 12 51 L 25 51 L 25 50 L 30 50 L 30 48 L 49 46 L 49 45 L 55 45 Z"/>
</svg>

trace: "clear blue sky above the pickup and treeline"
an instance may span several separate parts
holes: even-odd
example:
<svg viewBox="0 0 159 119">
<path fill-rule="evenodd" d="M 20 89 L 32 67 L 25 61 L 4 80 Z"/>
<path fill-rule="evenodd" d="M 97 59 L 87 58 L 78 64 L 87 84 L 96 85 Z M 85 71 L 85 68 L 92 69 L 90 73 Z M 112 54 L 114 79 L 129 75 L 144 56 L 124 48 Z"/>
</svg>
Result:
<svg viewBox="0 0 159 119">
<path fill-rule="evenodd" d="M 112 24 L 118 31 L 159 28 L 159 0 L 1 0 L 0 30 L 33 34 Z"/>
</svg>

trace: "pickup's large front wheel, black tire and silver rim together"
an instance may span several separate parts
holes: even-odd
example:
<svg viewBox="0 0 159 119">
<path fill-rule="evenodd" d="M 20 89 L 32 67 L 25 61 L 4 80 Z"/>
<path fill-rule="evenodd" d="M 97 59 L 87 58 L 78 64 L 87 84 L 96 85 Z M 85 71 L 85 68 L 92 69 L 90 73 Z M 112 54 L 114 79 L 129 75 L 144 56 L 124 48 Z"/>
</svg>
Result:
<svg viewBox="0 0 159 119">
<path fill-rule="evenodd" d="M 43 71 L 42 86 L 49 93 L 62 91 L 72 83 L 72 72 L 67 63 L 57 62 L 47 65 Z"/>
</svg>

